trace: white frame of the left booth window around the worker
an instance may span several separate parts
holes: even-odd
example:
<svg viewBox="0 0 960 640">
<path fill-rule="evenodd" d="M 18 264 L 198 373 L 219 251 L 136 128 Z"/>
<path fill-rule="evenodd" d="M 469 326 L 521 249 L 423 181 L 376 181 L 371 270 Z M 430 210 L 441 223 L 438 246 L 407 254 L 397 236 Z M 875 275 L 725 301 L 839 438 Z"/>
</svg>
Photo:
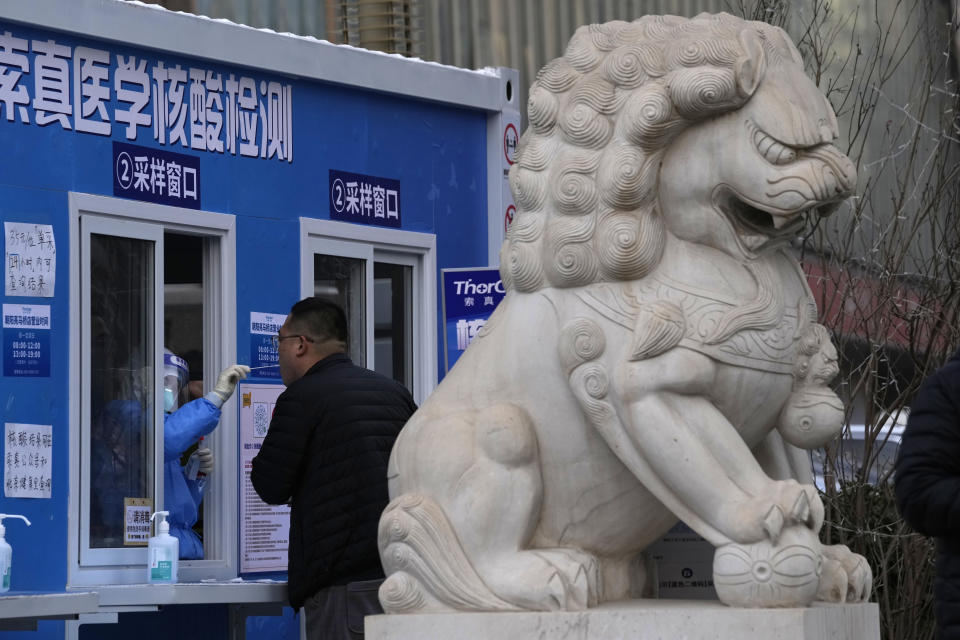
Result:
<svg viewBox="0 0 960 640">
<path fill-rule="evenodd" d="M 84 468 L 89 468 L 89 442 L 83 433 L 89 433 L 88 417 L 83 416 L 82 402 L 89 393 L 89 338 L 82 340 L 81 317 L 89 309 L 89 299 L 81 300 L 81 291 L 89 295 L 89 288 L 82 287 L 83 278 L 89 279 L 89 263 L 84 264 L 88 253 L 81 253 L 81 243 L 87 239 L 89 249 L 90 229 L 99 229 L 108 235 L 127 236 L 130 233 L 158 236 L 155 277 L 158 286 L 155 292 L 156 362 L 163 357 L 163 255 L 164 232 L 201 235 L 217 240 L 217 250 L 205 252 L 204 261 L 204 325 L 212 328 L 211 319 L 219 318 L 215 330 L 204 331 L 204 380 L 212 388 L 219 371 L 236 361 L 236 220 L 229 214 L 196 211 L 133 200 L 71 192 L 69 201 L 70 226 L 70 492 L 68 500 L 68 576 L 70 587 L 104 584 L 135 584 L 146 579 L 146 551 L 139 549 L 89 549 L 89 523 L 87 514 L 81 513 L 81 494 L 89 489 L 89 471 L 83 477 Z M 81 216 L 84 228 L 81 230 Z M 92 225 L 89 226 L 88 225 Z M 106 225 L 106 226 L 103 226 Z M 147 228 L 150 230 L 147 230 Z M 97 231 L 94 231 L 97 232 Z M 130 237 L 139 237 L 130 235 Z M 162 380 L 155 379 L 154 393 L 160 395 Z M 159 403 L 155 408 L 156 419 L 162 424 L 163 415 Z M 236 425 L 235 402 L 227 402 L 222 408 L 221 425 Z M 199 581 L 204 578 L 230 579 L 237 576 L 238 488 L 228 481 L 237 476 L 237 430 L 218 428 L 207 437 L 208 446 L 217 460 L 215 477 L 204 500 L 204 526 L 210 535 L 205 536 L 204 546 L 210 560 L 182 560 L 179 574 L 181 581 Z M 163 450 L 155 446 L 155 494 L 156 504 L 163 500 Z M 222 481 L 218 481 L 221 480 Z M 83 546 L 81 546 L 83 545 Z M 91 551 L 96 551 L 93 555 Z M 137 556 L 139 555 L 139 559 Z"/>
</svg>

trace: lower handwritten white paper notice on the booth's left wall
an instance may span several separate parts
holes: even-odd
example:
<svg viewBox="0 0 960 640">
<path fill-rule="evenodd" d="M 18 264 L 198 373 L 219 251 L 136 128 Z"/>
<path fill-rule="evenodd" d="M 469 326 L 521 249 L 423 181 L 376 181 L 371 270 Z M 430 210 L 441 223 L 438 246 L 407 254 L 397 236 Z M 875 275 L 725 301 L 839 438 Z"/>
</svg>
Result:
<svg viewBox="0 0 960 640">
<path fill-rule="evenodd" d="M 49 498 L 53 477 L 53 426 L 5 423 L 3 495 Z"/>
</svg>

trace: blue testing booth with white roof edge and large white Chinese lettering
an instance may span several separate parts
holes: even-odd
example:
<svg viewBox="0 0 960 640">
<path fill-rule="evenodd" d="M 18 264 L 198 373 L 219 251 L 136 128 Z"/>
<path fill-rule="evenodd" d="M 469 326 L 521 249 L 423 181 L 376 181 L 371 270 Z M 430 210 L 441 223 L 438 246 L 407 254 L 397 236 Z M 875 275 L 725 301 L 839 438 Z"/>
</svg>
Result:
<svg viewBox="0 0 960 640">
<path fill-rule="evenodd" d="M 4 522 L 0 635 L 300 637 L 284 514 L 244 484 L 282 389 L 271 336 L 296 300 L 336 300 L 353 359 L 426 398 L 440 271 L 497 264 L 511 218 L 516 82 L 138 3 L 0 0 L 0 513 L 31 522 Z M 204 443 L 203 557 L 176 585 L 146 583 L 144 546 L 164 349 L 184 399 L 256 367 Z"/>
</svg>

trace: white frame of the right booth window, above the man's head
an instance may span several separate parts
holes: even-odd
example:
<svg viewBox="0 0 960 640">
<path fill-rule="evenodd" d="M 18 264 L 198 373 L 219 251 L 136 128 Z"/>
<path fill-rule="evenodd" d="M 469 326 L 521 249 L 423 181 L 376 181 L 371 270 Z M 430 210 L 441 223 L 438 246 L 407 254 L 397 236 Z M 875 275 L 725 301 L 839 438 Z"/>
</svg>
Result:
<svg viewBox="0 0 960 640">
<path fill-rule="evenodd" d="M 314 254 L 360 257 L 367 260 L 365 304 L 373 309 L 373 263 L 413 268 L 413 398 L 422 404 L 437 386 L 437 238 L 431 233 L 368 227 L 300 218 L 300 294 L 313 295 Z M 366 313 L 367 362 L 373 369 L 374 319 Z"/>
</svg>

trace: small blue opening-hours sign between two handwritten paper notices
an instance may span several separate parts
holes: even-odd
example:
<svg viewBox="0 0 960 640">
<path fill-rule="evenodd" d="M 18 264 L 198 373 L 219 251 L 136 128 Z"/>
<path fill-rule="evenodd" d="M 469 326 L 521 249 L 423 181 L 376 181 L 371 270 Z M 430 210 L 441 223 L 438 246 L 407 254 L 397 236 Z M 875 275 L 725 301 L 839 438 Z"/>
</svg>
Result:
<svg viewBox="0 0 960 640">
<path fill-rule="evenodd" d="M 50 305 L 3 305 L 3 375 L 50 377 Z"/>
</svg>

